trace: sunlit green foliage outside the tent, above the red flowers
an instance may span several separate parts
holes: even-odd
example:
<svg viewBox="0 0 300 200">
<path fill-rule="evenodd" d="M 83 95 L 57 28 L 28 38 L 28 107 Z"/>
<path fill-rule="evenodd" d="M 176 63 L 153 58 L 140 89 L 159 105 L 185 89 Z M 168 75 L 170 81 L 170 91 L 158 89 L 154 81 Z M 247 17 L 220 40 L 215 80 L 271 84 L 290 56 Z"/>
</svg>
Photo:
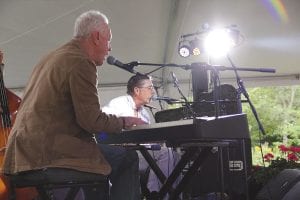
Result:
<svg viewBox="0 0 300 200">
<path fill-rule="evenodd" d="M 266 132 L 262 142 L 300 145 L 300 86 L 253 88 L 248 92 Z M 243 112 L 248 116 L 252 144 L 257 145 L 259 129 L 248 103 L 243 103 Z"/>
</svg>

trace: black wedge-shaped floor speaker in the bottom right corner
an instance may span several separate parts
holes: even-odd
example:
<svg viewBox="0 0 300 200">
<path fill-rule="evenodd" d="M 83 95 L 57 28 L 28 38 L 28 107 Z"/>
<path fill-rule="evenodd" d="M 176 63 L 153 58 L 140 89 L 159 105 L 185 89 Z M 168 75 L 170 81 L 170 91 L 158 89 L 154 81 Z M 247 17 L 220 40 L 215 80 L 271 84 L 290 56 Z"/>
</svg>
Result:
<svg viewBox="0 0 300 200">
<path fill-rule="evenodd" d="M 288 195 L 290 189 L 300 181 L 300 170 L 299 169 L 285 169 L 281 171 L 277 176 L 272 178 L 257 194 L 256 200 L 285 200 L 288 196 L 294 195 L 294 190 L 300 188 L 297 186 Z M 297 184 L 298 185 L 298 184 Z M 298 192 L 298 191 L 297 191 Z M 298 192 L 299 193 L 299 192 Z M 285 196 L 288 195 L 288 196 Z M 295 198 L 294 198 L 295 199 Z M 294 200 L 293 198 L 288 200 Z M 300 196 L 295 200 L 300 199 Z"/>
</svg>

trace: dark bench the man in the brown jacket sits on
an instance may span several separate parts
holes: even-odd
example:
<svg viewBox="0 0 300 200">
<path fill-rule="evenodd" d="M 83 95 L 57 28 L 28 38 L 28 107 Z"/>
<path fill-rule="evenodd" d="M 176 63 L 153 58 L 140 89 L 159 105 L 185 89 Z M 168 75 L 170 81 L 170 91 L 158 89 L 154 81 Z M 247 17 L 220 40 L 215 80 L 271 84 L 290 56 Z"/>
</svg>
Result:
<svg viewBox="0 0 300 200">
<path fill-rule="evenodd" d="M 81 187 L 90 187 L 109 199 L 108 177 L 66 168 L 45 168 L 25 171 L 18 174 L 6 174 L 9 181 L 9 200 L 16 200 L 16 188 L 35 187 L 39 198 L 53 200 L 53 189 L 69 189 L 65 200 L 75 199 Z"/>
</svg>

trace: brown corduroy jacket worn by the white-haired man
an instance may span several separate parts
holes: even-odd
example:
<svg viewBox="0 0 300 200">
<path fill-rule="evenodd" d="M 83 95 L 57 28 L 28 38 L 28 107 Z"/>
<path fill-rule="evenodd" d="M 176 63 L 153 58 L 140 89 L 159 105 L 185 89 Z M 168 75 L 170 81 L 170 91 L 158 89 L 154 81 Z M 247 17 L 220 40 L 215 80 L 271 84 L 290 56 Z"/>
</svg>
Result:
<svg viewBox="0 0 300 200">
<path fill-rule="evenodd" d="M 109 174 L 93 133 L 119 133 L 123 123 L 100 110 L 97 69 L 76 40 L 35 67 L 9 134 L 2 172 L 46 167 Z"/>
</svg>

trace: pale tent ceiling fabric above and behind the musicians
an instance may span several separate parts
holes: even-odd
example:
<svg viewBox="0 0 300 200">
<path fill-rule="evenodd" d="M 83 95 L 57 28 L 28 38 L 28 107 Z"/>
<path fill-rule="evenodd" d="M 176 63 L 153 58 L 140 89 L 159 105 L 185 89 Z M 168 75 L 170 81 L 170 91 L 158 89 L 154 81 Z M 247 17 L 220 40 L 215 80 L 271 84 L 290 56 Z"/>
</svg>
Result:
<svg viewBox="0 0 300 200">
<path fill-rule="evenodd" d="M 285 8 L 281 12 L 286 11 L 284 19 L 280 12 L 274 14 L 270 5 L 266 6 L 267 2 L 271 1 L 1 0 L 0 49 L 5 53 L 5 83 L 8 88 L 23 88 L 38 60 L 72 37 L 75 18 L 84 11 L 97 9 L 110 20 L 111 55 L 124 63 L 206 62 L 205 55 L 188 59 L 179 57 L 180 36 L 201 30 L 204 23 L 211 26 L 235 24 L 246 39 L 230 53 L 235 65 L 277 70 L 276 74 L 241 72 L 242 78 L 248 77 L 247 80 L 255 82 L 257 76 L 274 76 L 268 84 L 278 85 L 284 76 L 290 77 L 289 83 L 299 84 L 300 1 L 278 0 Z M 226 59 L 210 62 L 230 67 Z M 141 66 L 135 69 L 148 72 L 155 68 Z M 170 71 L 174 71 L 182 82 L 190 79 L 190 71 L 179 68 L 165 68 L 157 71 L 155 76 L 161 78 L 159 80 L 170 79 Z M 130 76 L 117 67 L 104 64 L 99 77 L 103 84 L 120 84 L 126 83 Z M 222 72 L 221 76 L 230 79 L 233 73 Z M 283 84 L 287 84 L 286 78 Z"/>
</svg>

